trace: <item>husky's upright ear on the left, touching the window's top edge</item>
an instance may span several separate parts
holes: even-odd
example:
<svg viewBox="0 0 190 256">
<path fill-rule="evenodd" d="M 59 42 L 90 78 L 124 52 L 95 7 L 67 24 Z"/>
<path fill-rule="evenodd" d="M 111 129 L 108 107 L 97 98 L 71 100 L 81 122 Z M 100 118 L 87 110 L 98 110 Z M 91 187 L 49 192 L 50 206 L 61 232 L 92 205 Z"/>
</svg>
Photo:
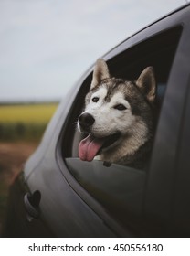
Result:
<svg viewBox="0 0 190 256">
<path fill-rule="evenodd" d="M 93 71 L 93 77 L 90 85 L 90 89 L 96 87 L 101 80 L 109 79 L 110 72 L 108 66 L 103 59 L 97 59 L 96 65 Z"/>
</svg>

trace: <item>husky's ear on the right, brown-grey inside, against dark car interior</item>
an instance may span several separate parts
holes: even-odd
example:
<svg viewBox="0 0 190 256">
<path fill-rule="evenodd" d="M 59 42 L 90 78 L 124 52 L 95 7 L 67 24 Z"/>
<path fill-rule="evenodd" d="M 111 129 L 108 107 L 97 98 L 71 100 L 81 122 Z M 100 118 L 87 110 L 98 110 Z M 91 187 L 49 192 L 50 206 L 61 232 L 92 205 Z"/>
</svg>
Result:
<svg viewBox="0 0 190 256">
<path fill-rule="evenodd" d="M 147 67 L 146 69 L 143 69 L 138 80 L 136 80 L 136 85 L 146 96 L 147 100 L 153 103 L 156 93 L 156 81 L 153 67 Z"/>
</svg>

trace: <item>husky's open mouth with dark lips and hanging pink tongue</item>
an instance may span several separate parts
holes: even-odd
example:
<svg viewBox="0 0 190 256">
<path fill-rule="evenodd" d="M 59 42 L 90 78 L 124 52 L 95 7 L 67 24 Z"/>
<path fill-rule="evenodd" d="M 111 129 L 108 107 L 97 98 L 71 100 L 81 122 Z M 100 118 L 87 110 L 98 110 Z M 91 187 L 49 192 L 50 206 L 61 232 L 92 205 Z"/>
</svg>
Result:
<svg viewBox="0 0 190 256">
<path fill-rule="evenodd" d="M 96 138 L 90 134 L 79 143 L 79 158 L 83 161 L 92 161 L 103 148 L 115 143 L 120 136 L 121 133 L 114 133 L 104 138 Z"/>
</svg>

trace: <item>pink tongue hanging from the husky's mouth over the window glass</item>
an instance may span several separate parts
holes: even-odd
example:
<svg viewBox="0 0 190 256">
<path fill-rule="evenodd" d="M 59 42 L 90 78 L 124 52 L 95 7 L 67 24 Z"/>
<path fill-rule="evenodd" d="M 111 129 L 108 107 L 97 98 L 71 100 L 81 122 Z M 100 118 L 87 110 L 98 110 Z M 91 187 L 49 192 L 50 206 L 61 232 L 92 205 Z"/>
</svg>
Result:
<svg viewBox="0 0 190 256">
<path fill-rule="evenodd" d="M 92 161 L 103 143 L 104 140 L 94 138 L 90 134 L 79 143 L 79 158 L 83 161 Z"/>
</svg>

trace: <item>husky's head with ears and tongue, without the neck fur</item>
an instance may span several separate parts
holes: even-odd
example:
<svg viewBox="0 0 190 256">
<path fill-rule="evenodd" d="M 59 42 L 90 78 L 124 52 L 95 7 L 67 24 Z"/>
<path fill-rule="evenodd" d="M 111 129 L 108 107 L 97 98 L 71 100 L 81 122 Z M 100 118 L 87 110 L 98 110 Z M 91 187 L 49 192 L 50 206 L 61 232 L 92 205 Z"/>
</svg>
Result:
<svg viewBox="0 0 190 256">
<path fill-rule="evenodd" d="M 147 136 L 155 90 L 152 67 L 136 81 L 121 80 L 111 78 L 106 62 L 98 59 L 78 120 L 79 131 L 90 133 L 79 144 L 79 157 L 91 161 L 100 149 L 108 150 L 125 136 Z"/>
</svg>

